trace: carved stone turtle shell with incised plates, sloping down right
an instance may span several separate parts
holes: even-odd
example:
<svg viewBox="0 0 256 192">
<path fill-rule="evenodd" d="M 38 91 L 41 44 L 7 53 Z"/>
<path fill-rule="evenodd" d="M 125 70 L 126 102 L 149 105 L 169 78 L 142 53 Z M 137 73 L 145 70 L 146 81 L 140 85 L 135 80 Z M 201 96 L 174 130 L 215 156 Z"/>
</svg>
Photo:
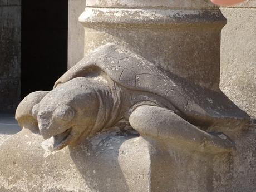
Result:
<svg viewBox="0 0 256 192">
<path fill-rule="evenodd" d="M 184 80 L 112 44 L 102 46 L 83 58 L 57 80 L 55 86 L 76 77 L 97 76 L 101 71 L 129 90 L 164 97 L 194 125 L 238 126 L 250 119 L 220 90 L 210 90 Z"/>
</svg>

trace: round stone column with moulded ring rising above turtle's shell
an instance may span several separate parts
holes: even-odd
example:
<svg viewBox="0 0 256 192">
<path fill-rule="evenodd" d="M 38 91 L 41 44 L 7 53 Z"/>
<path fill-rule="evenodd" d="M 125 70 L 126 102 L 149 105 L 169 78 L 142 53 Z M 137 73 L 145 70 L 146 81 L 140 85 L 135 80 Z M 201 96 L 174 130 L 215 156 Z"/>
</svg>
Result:
<svg viewBox="0 0 256 192">
<path fill-rule="evenodd" d="M 199 85 L 219 88 L 225 18 L 210 1 L 86 1 L 85 55 L 107 42 Z"/>
</svg>

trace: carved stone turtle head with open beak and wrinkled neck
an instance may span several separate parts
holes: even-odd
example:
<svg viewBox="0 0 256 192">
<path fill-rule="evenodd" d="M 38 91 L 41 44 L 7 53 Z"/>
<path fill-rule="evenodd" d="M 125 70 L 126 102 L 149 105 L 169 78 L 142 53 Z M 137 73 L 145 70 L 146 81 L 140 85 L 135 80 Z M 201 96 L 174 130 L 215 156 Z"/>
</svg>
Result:
<svg viewBox="0 0 256 192">
<path fill-rule="evenodd" d="M 44 139 L 53 137 L 53 148 L 76 145 L 90 136 L 97 120 L 99 101 L 86 78 L 79 77 L 50 91 L 33 107 Z"/>
</svg>

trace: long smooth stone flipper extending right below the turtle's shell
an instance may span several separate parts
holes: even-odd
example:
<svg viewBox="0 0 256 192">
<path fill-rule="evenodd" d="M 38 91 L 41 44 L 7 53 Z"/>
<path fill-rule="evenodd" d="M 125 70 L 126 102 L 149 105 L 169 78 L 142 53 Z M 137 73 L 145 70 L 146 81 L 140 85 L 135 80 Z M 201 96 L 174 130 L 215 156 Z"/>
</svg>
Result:
<svg viewBox="0 0 256 192">
<path fill-rule="evenodd" d="M 142 137 L 165 145 L 210 154 L 229 152 L 234 147 L 224 134 L 221 134 L 223 139 L 209 134 L 163 107 L 140 106 L 132 112 L 129 121 Z"/>
</svg>

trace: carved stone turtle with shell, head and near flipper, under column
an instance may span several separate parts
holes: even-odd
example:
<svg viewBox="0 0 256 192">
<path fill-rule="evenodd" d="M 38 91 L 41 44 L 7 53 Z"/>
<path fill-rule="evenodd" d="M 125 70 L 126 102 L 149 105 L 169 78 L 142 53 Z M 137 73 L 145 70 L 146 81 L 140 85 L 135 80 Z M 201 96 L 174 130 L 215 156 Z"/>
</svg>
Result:
<svg viewBox="0 0 256 192">
<path fill-rule="evenodd" d="M 220 90 L 183 80 L 112 44 L 68 70 L 31 115 L 45 139 L 53 136 L 56 150 L 76 145 L 124 117 L 146 139 L 223 152 L 232 142 L 206 130 L 243 128 L 250 121 Z"/>
</svg>

